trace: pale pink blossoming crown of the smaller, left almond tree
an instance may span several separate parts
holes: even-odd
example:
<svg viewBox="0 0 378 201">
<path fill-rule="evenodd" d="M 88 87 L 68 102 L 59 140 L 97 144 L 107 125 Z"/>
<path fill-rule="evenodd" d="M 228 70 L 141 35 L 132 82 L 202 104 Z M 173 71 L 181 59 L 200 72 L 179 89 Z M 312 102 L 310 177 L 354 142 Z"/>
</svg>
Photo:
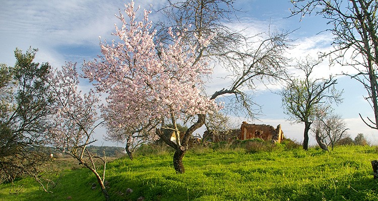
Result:
<svg viewBox="0 0 378 201">
<path fill-rule="evenodd" d="M 50 74 L 54 105 L 51 143 L 62 150 L 72 151 L 93 140 L 92 132 L 98 120 L 99 99 L 94 91 L 83 94 L 78 90 L 76 64 L 66 63 Z"/>
</svg>

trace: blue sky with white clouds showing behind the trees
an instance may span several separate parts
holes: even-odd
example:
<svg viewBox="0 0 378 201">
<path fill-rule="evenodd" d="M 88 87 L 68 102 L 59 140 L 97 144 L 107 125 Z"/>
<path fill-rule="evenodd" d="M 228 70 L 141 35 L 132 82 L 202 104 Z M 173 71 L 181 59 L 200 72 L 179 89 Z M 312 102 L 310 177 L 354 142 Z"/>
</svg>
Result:
<svg viewBox="0 0 378 201">
<path fill-rule="evenodd" d="M 119 23 L 114 16 L 118 9 L 123 9 L 128 1 L 120 0 L 0 0 L 0 63 L 13 66 L 15 63 L 14 50 L 20 48 L 27 50 L 30 46 L 38 48 L 36 62 L 49 62 L 53 67 L 59 67 L 67 61 L 77 62 L 81 66 L 84 60 L 92 60 L 100 54 L 99 36 L 101 40 L 113 39 L 114 24 Z M 166 4 L 165 0 L 135 0 L 141 9 L 149 9 L 152 5 L 152 21 L 158 20 L 155 11 Z M 294 48 L 288 53 L 291 57 L 303 58 L 306 55 L 317 57 L 319 51 L 332 49 L 332 34 L 322 32 L 325 30 L 326 21 L 320 16 L 305 16 L 300 21 L 299 16 L 290 16 L 290 1 L 286 0 L 238 0 L 234 7 L 241 9 L 237 13 L 239 20 L 235 20 L 231 27 L 244 29 L 247 35 L 267 32 L 270 29 L 278 31 L 292 31 L 290 39 L 295 39 Z M 340 66 L 329 66 L 327 62 L 314 70 L 316 77 L 329 77 L 337 75 L 341 71 L 353 72 L 351 69 Z M 209 83 L 208 90 L 215 91 L 225 87 L 222 70 L 215 70 L 214 79 Z M 291 72 L 297 73 L 291 69 Z M 337 76 L 339 90 L 344 89 L 344 101 L 334 106 L 335 113 L 342 116 L 350 130 L 348 134 L 354 138 L 358 133 L 363 133 L 371 144 L 378 144 L 378 132 L 368 128 L 359 118 L 372 117 L 372 110 L 364 100 L 365 89 L 355 80 L 346 76 Z M 80 86 L 83 90 L 91 87 L 85 80 Z M 281 97 L 275 93 L 281 86 L 266 88 L 259 85 L 257 90 L 250 91 L 254 96 L 254 102 L 262 106 L 262 113 L 258 119 L 251 120 L 232 117 L 235 124 L 241 125 L 243 121 L 255 124 L 267 124 L 276 127 L 282 125 L 285 137 L 303 141 L 303 124 L 292 124 L 282 109 Z M 202 133 L 203 129 L 195 133 Z M 116 145 L 103 140 L 105 130 L 99 130 L 96 134 L 96 145 Z M 316 144 L 310 136 L 310 145 Z"/>
</svg>

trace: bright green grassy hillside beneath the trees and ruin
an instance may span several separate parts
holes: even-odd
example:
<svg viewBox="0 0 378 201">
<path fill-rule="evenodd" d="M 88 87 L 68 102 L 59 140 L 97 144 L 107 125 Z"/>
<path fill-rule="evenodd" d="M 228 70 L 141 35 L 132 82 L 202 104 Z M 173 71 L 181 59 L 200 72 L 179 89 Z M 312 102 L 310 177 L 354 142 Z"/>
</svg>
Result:
<svg viewBox="0 0 378 201">
<path fill-rule="evenodd" d="M 171 152 L 143 153 L 108 164 L 112 200 L 378 200 L 370 165 L 378 158 L 376 147 L 197 148 L 185 155 L 181 175 Z M 53 193 L 39 190 L 32 179 L 2 184 L 0 200 L 104 200 L 98 187 L 91 189 L 96 180 L 86 169 L 66 169 L 56 178 Z"/>
</svg>

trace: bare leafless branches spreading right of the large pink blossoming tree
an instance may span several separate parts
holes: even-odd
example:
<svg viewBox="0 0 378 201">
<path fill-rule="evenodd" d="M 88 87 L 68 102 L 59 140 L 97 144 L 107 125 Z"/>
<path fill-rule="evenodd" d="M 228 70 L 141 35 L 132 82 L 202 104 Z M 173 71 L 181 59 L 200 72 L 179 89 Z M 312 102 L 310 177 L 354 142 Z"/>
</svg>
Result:
<svg viewBox="0 0 378 201">
<path fill-rule="evenodd" d="M 234 23 L 236 14 L 241 12 L 233 7 L 234 0 L 185 0 L 169 1 L 169 6 L 161 13 L 167 22 L 160 22 L 160 41 L 169 41 L 166 28 L 187 30 L 186 42 L 198 44 L 196 36 L 214 35 L 210 45 L 202 48 L 197 45 L 197 58 L 208 57 L 217 65 L 229 71 L 229 86 L 214 92 L 211 99 L 227 98 L 229 105 L 225 110 L 234 114 L 246 113 L 254 118 L 259 106 L 243 91 L 243 88 L 255 89 L 256 82 L 279 80 L 286 75 L 289 59 L 286 50 L 291 47 L 288 39 L 290 32 L 271 31 L 247 37 L 242 30 L 233 30 L 228 24 Z M 258 109 L 254 109 L 254 107 Z"/>
</svg>

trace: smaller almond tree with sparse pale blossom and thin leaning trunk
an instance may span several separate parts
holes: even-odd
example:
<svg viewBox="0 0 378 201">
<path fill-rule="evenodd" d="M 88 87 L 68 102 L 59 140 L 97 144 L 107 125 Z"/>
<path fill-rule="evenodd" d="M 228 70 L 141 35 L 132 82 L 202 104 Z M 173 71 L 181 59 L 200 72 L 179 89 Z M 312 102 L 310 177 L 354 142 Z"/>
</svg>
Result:
<svg viewBox="0 0 378 201">
<path fill-rule="evenodd" d="M 74 63 L 66 63 L 60 71 L 55 70 L 54 74 L 51 73 L 50 80 L 55 97 L 52 107 L 54 125 L 50 132 L 51 144 L 90 169 L 95 174 L 106 200 L 109 200 L 104 185 L 106 157 L 100 158 L 86 149 L 96 141 L 93 133 L 101 124 L 98 123 L 96 112 L 99 99 L 92 90 L 88 94 L 78 90 L 79 74 Z M 97 171 L 96 160 L 102 162 L 102 175 Z"/>
</svg>

